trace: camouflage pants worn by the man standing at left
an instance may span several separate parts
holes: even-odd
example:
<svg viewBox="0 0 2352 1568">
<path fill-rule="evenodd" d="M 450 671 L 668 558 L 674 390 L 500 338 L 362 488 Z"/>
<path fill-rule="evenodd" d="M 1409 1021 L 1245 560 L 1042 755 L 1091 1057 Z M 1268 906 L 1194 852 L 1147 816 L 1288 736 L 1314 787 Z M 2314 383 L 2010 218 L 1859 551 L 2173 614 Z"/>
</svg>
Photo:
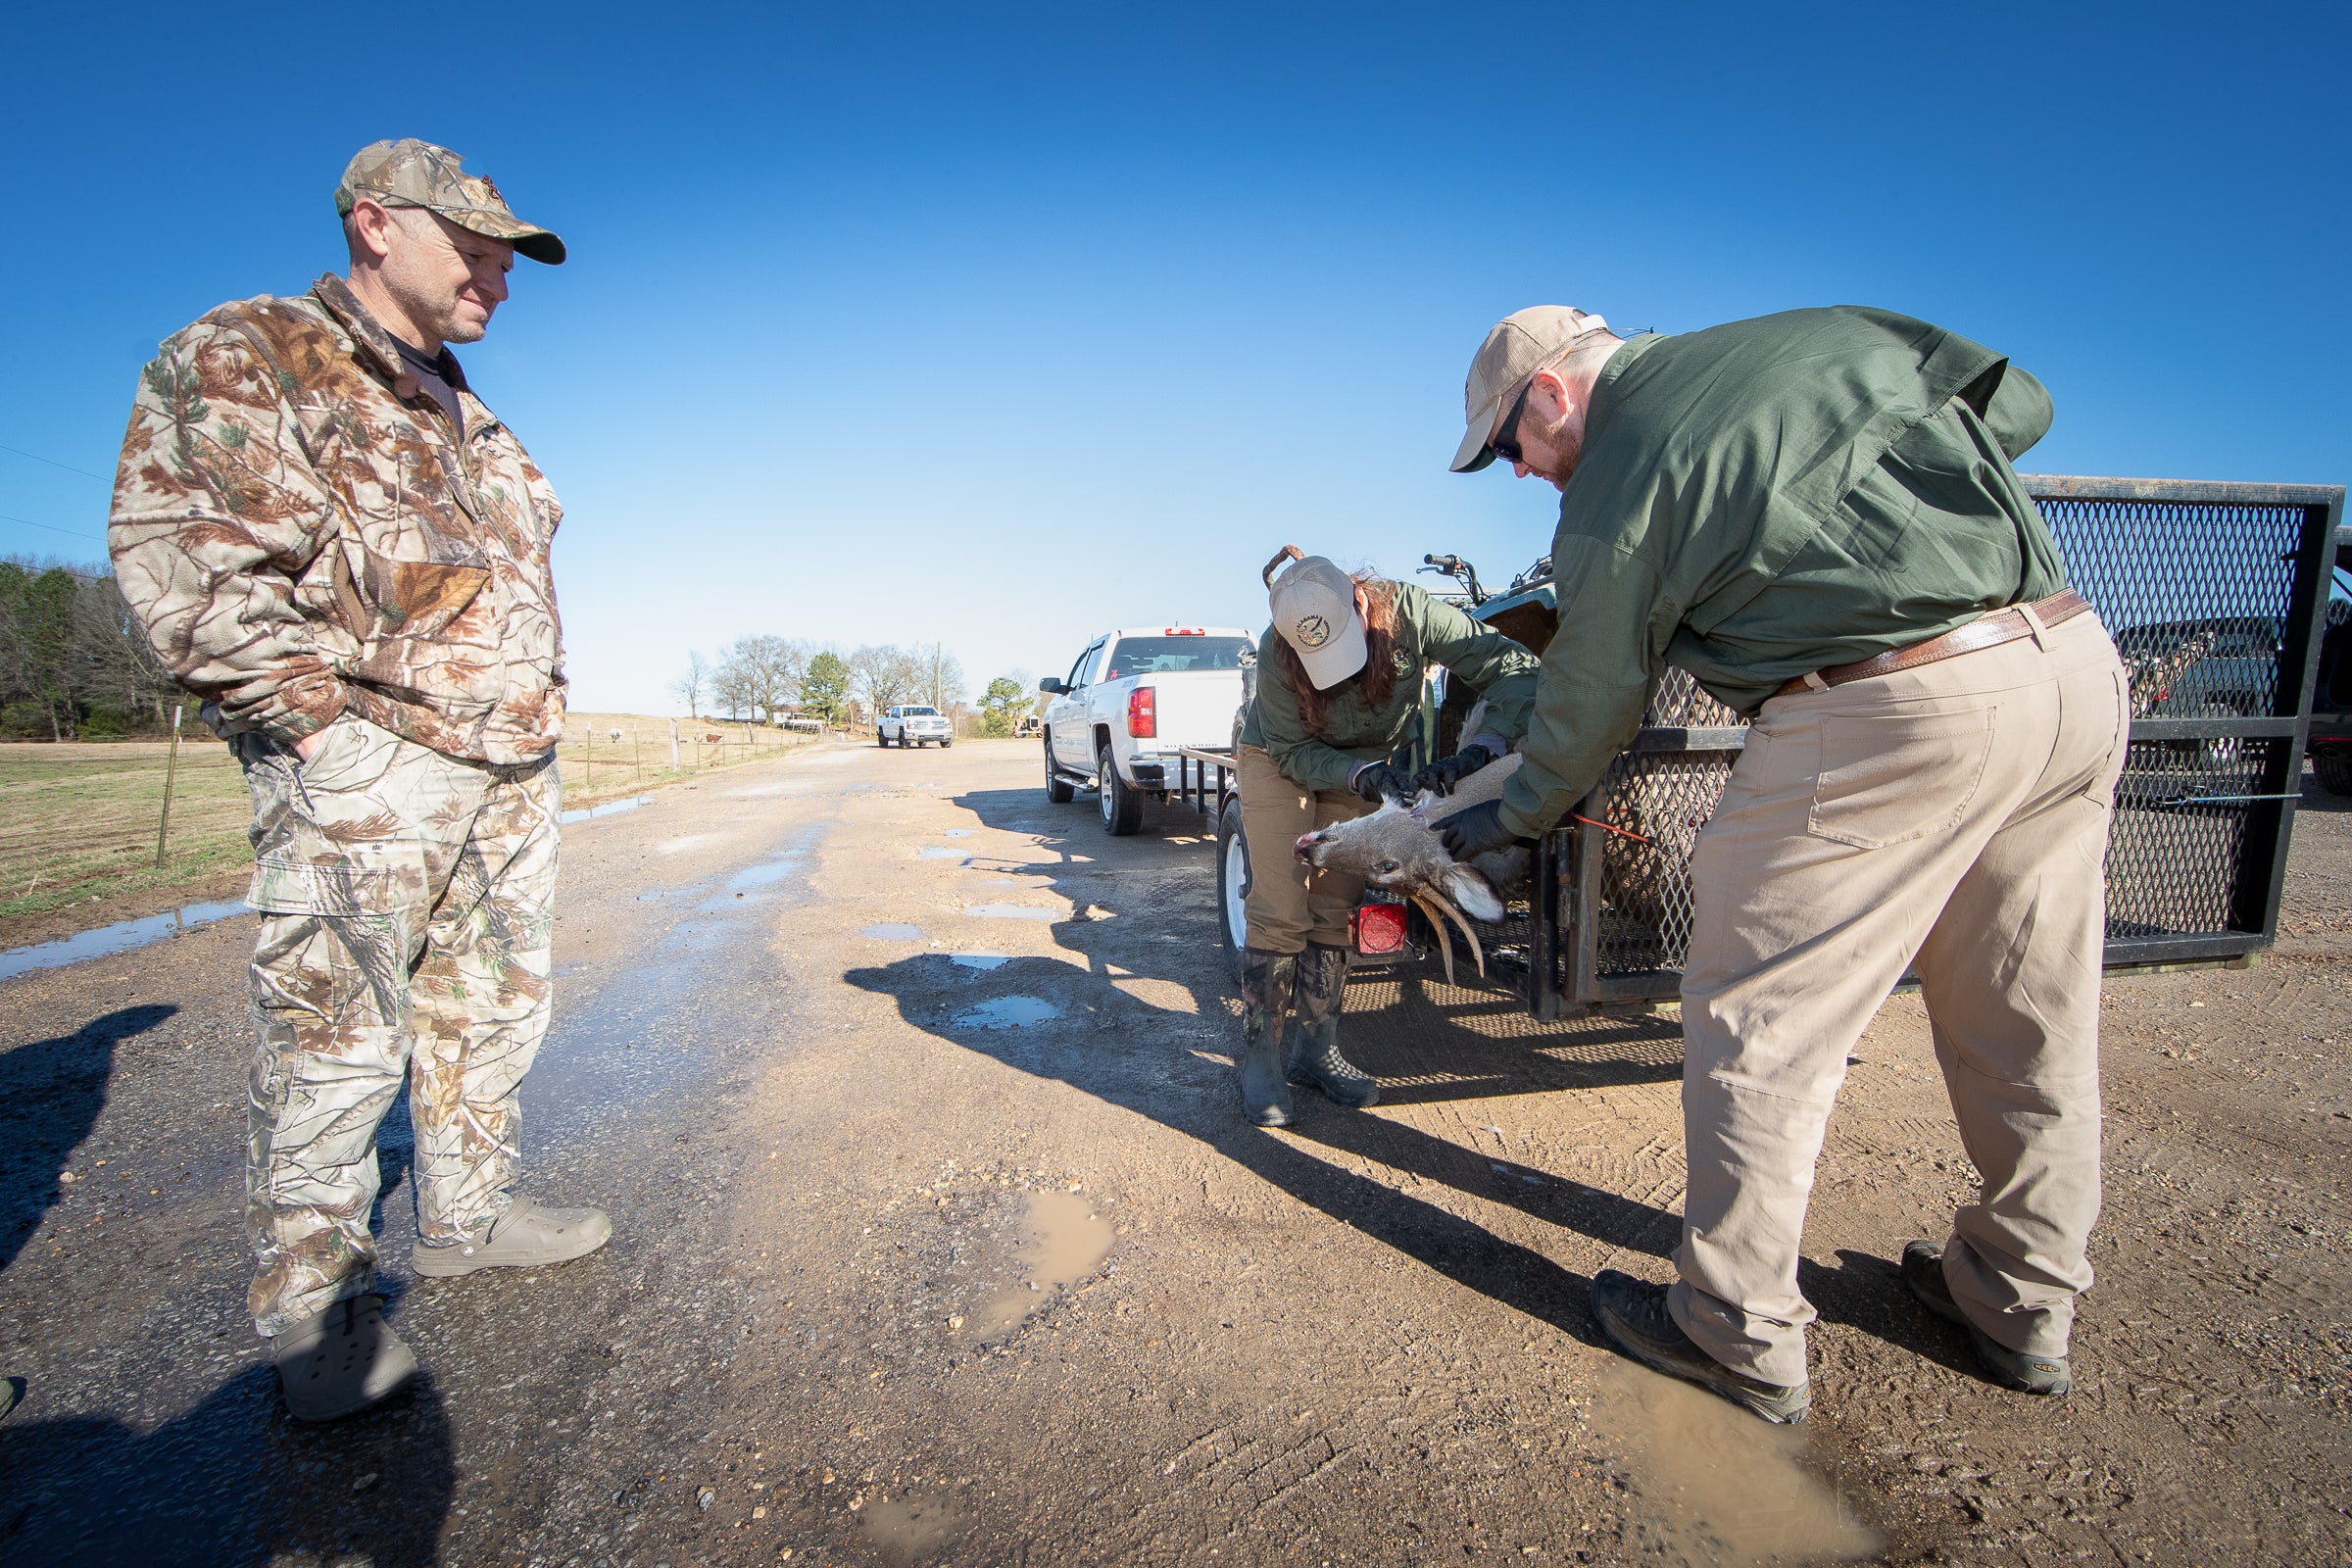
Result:
<svg viewBox="0 0 2352 1568">
<path fill-rule="evenodd" d="M 343 715 L 315 755 L 238 738 L 261 912 L 245 1227 L 273 1335 L 374 1288 L 376 1124 L 409 1081 L 416 1229 L 506 1208 L 548 1032 L 560 780 Z"/>
</svg>

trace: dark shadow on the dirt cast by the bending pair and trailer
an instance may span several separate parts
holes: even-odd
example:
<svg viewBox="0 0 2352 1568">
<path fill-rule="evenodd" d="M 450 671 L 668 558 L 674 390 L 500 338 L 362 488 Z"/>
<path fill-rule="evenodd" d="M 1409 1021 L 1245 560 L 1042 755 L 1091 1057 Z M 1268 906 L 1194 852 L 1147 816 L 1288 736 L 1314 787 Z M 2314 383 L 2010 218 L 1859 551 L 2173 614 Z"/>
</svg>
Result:
<svg viewBox="0 0 2352 1568">
<path fill-rule="evenodd" d="M 1105 842 L 1089 839 L 1091 818 L 1049 806 L 1040 792 L 976 790 L 955 804 L 990 827 L 1042 839 L 1037 860 L 976 870 L 1025 872 L 1040 879 L 1040 891 L 1068 898 L 1080 917 L 1056 922 L 1054 933 L 1084 969 L 1014 959 L 971 971 L 946 954 L 917 954 L 844 976 L 891 997 L 910 1025 L 1197 1138 L 1296 1201 L 1588 1342 L 1595 1331 L 1583 1274 L 1437 1204 L 1345 1171 L 1329 1154 L 1501 1201 L 1609 1246 L 1653 1255 L 1672 1246 L 1679 1220 L 1670 1211 L 1461 1147 L 1402 1119 L 1343 1112 L 1312 1093 L 1298 1095 L 1291 1128 L 1249 1126 L 1235 1105 L 1228 1058 L 1240 1020 L 1216 985 L 1218 961 L 1204 952 L 1216 945 L 1216 922 L 1195 823 L 1174 811 L 1152 813 L 1143 837 Z M 1185 842 L 1152 842 L 1152 827 L 1169 825 L 1181 827 Z M 960 1023 L 974 1006 L 1009 997 L 1040 997 L 1061 1020 L 1037 1027 Z M 1656 1020 L 1534 1034 L 1512 1023 L 1524 1023 L 1515 1001 L 1428 985 L 1414 973 L 1359 976 L 1348 987 L 1348 1006 L 1343 1041 L 1383 1079 L 1390 1105 L 1668 1081 L 1682 1072 L 1679 1032 Z"/>
</svg>

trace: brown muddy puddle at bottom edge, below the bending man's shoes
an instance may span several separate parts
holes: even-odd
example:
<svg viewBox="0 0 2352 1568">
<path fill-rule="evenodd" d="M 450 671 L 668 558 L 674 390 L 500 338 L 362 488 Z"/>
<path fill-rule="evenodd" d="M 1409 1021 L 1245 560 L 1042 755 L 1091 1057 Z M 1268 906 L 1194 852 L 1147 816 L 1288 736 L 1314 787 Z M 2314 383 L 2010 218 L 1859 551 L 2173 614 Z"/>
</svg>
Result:
<svg viewBox="0 0 2352 1568">
<path fill-rule="evenodd" d="M 1820 1563 L 1877 1552 L 1811 1465 L 1804 1427 L 1755 1420 L 1689 1382 L 1613 1363 L 1595 1378 L 1592 1436 L 1625 1467 L 1642 1561 Z"/>
</svg>

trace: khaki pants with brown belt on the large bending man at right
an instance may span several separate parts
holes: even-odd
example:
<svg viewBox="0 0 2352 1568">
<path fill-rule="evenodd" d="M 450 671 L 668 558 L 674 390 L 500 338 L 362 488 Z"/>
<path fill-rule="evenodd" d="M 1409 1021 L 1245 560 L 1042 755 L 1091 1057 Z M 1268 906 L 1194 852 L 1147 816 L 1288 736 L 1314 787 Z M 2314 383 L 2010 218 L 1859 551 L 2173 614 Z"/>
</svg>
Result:
<svg viewBox="0 0 2352 1568">
<path fill-rule="evenodd" d="M 1691 856 L 1682 983 L 1689 1197 L 1675 1321 L 1806 1380 L 1804 1208 L 1846 1053 L 1917 966 L 1983 1175 L 1945 1276 L 2011 1349 L 2065 1354 L 2098 1220 L 2107 816 L 2131 724 L 2091 614 L 1764 703 Z"/>
</svg>

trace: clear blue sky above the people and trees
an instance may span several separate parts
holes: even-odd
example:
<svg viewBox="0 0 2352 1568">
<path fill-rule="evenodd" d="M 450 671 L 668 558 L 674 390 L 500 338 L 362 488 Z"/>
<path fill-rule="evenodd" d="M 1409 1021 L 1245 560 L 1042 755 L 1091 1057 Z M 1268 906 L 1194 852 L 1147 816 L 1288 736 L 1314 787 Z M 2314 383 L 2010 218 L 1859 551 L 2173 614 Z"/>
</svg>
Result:
<svg viewBox="0 0 2352 1568">
<path fill-rule="evenodd" d="M 572 244 L 466 367 L 564 496 L 583 708 L 743 632 L 978 686 L 1256 628 L 1287 541 L 1505 581 L 1550 489 L 1444 465 L 1538 301 L 1889 306 L 2051 386 L 2030 470 L 2345 482 L 2345 12 L 2237 9 L 45 7 L 0 552 L 101 552 L 155 341 L 341 268 L 405 134 Z"/>
</svg>

